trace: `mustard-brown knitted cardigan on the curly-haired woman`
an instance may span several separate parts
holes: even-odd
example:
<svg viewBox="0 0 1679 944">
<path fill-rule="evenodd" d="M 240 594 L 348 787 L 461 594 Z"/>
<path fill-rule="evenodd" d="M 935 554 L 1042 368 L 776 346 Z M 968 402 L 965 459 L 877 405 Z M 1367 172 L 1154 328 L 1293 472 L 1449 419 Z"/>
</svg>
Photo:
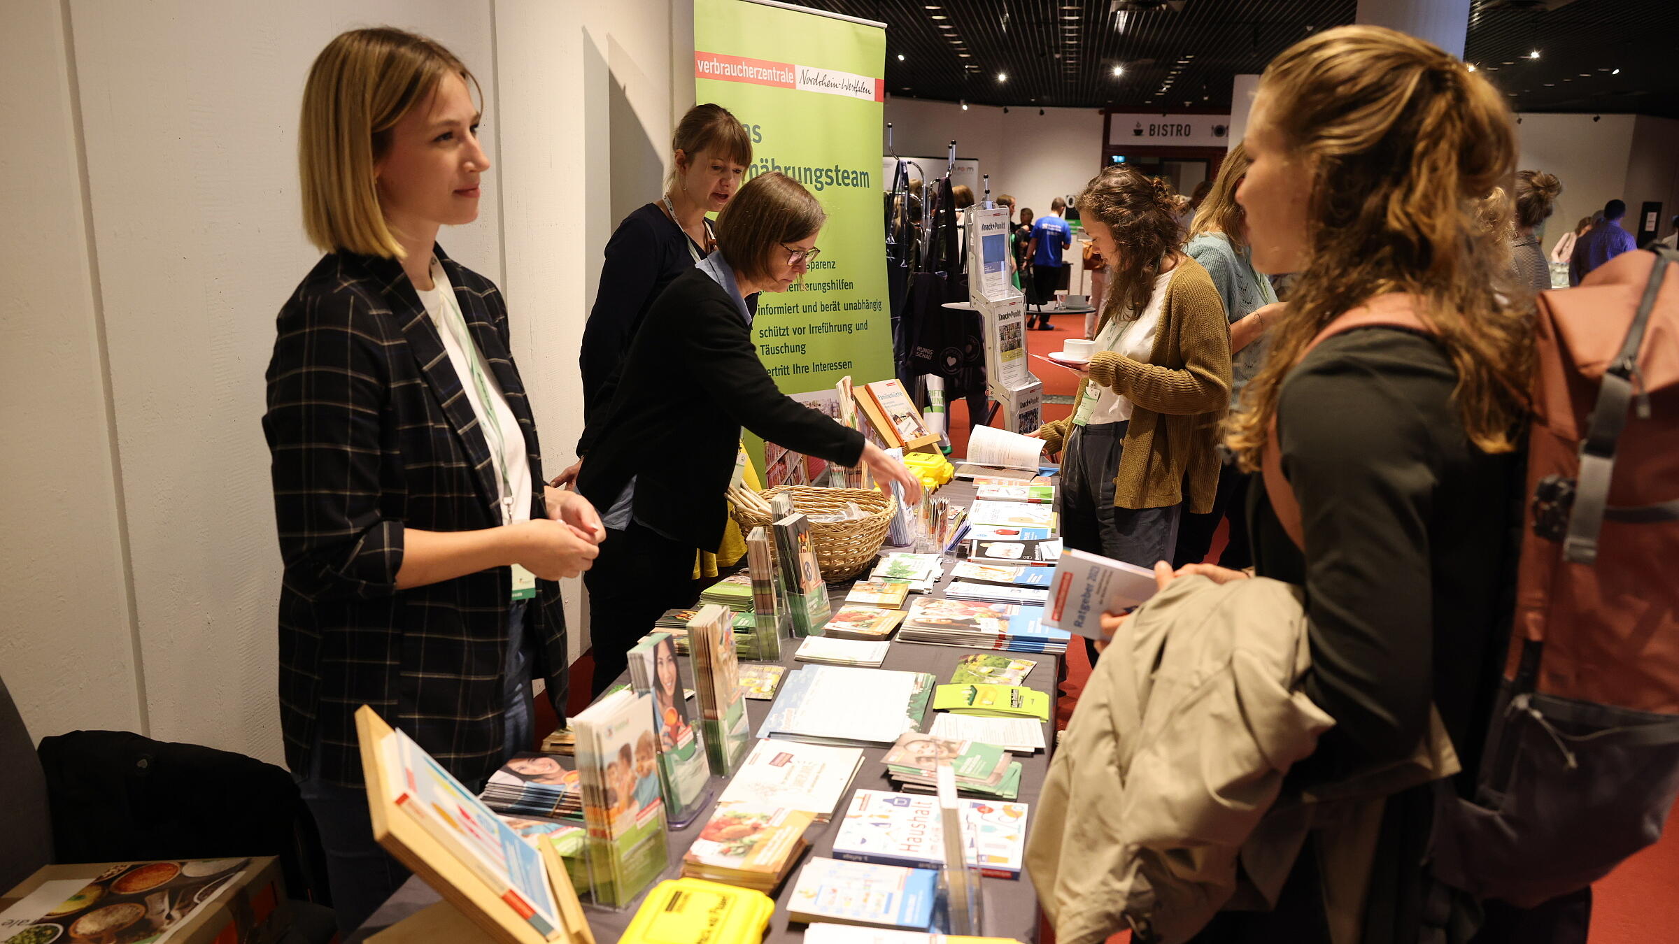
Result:
<svg viewBox="0 0 1679 944">
<path fill-rule="evenodd" d="M 1115 291 L 1110 287 L 1110 291 Z M 1219 485 L 1219 422 L 1231 403 L 1231 329 L 1212 277 L 1184 257 L 1167 282 L 1148 363 L 1098 351 L 1090 376 L 1132 401 L 1132 425 L 1113 477 L 1115 507 L 1212 511 Z M 1076 410 L 1076 406 L 1075 406 Z M 1039 427 L 1046 452 L 1061 452 L 1073 418 Z"/>
</svg>

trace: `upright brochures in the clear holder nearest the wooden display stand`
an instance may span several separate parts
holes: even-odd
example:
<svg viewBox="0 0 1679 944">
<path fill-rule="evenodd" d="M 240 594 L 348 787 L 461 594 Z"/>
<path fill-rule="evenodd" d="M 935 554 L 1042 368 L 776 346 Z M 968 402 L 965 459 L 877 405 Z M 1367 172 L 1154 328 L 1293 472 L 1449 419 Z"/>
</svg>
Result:
<svg viewBox="0 0 1679 944">
<path fill-rule="evenodd" d="M 653 695 L 618 689 L 578 712 L 571 729 L 578 734 L 594 900 L 623 907 L 670 862 Z"/>
</svg>

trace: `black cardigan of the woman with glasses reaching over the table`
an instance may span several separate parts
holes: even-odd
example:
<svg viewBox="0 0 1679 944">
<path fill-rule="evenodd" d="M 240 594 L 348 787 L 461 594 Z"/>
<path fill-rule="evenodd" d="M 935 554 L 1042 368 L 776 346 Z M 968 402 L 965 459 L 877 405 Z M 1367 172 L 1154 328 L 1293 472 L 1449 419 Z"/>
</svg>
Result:
<svg viewBox="0 0 1679 944">
<path fill-rule="evenodd" d="M 635 475 L 635 519 L 695 548 L 722 543 L 740 427 L 840 465 L 863 455 L 863 433 L 776 390 L 739 302 L 702 269 L 653 302 L 599 396 L 606 406 L 578 443 L 578 490 L 608 509 Z"/>
</svg>

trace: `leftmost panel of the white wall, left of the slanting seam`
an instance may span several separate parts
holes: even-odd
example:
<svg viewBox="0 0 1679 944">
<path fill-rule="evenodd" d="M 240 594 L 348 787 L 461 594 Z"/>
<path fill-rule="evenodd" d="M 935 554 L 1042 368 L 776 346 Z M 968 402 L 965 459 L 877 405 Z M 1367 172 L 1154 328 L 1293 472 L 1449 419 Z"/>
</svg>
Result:
<svg viewBox="0 0 1679 944">
<path fill-rule="evenodd" d="M 109 385 L 57 2 L 0 15 L 0 675 L 30 729 L 146 729 Z"/>
</svg>

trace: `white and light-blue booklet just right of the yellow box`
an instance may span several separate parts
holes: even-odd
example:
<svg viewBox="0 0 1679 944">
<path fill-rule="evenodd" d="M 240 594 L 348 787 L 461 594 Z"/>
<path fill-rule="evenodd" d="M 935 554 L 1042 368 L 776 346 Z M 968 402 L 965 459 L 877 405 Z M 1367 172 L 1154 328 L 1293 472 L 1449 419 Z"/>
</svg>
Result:
<svg viewBox="0 0 1679 944">
<path fill-rule="evenodd" d="M 813 858 L 799 870 L 787 919 L 873 927 L 932 927 L 939 873 L 928 868 Z"/>
</svg>

